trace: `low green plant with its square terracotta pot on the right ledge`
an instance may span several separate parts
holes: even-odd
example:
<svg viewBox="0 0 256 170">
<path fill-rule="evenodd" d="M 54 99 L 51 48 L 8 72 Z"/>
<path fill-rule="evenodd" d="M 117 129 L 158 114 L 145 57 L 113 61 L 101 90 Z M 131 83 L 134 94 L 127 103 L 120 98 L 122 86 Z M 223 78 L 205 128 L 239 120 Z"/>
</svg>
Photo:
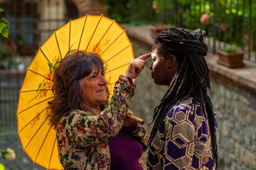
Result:
<svg viewBox="0 0 256 170">
<path fill-rule="evenodd" d="M 218 54 L 218 64 L 228 68 L 244 67 L 243 56 L 244 51 L 239 50 L 235 45 L 225 47 L 223 50 L 216 51 Z"/>
</svg>

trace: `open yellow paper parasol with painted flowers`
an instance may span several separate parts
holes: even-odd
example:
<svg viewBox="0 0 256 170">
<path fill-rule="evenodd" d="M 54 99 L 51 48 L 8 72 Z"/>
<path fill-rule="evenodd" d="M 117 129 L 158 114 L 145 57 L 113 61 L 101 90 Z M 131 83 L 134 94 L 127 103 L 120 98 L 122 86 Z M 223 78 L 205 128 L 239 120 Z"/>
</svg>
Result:
<svg viewBox="0 0 256 170">
<path fill-rule="evenodd" d="M 54 32 L 37 52 L 21 87 L 17 120 L 23 150 L 46 169 L 62 170 L 55 130 L 49 125 L 47 102 L 53 98 L 52 75 L 56 62 L 69 50 L 98 53 L 107 63 L 106 79 L 114 85 L 134 58 L 125 31 L 104 16 L 86 15 L 70 20 Z"/>
</svg>

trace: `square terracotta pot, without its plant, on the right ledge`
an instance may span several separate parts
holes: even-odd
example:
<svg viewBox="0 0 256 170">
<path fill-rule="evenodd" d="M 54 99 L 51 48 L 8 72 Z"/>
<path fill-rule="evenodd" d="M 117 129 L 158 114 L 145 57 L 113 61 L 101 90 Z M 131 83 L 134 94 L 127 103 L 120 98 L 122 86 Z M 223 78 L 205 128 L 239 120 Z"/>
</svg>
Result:
<svg viewBox="0 0 256 170">
<path fill-rule="evenodd" d="M 217 51 L 218 54 L 218 64 L 226 66 L 228 68 L 241 68 L 244 67 L 243 63 L 243 56 L 244 52 L 234 52 L 234 53 L 227 53 L 224 51 Z"/>
</svg>

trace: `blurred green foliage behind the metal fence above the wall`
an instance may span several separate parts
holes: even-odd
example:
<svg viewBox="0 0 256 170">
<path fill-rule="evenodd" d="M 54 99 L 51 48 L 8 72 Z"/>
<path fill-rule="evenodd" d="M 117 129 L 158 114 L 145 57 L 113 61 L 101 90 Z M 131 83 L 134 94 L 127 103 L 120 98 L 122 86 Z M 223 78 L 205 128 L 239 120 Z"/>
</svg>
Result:
<svg viewBox="0 0 256 170">
<path fill-rule="evenodd" d="M 207 36 L 241 45 L 256 29 L 256 0 L 106 0 L 110 18 L 119 23 L 156 24 L 172 27 L 201 28 Z M 157 8 L 152 8 L 153 1 Z M 200 23 L 202 14 L 209 14 Z M 225 29 L 221 29 L 225 25 Z M 251 32 L 251 33 L 250 33 Z M 245 36 L 245 33 L 249 33 Z M 256 39 L 256 37 L 254 37 Z"/>
</svg>

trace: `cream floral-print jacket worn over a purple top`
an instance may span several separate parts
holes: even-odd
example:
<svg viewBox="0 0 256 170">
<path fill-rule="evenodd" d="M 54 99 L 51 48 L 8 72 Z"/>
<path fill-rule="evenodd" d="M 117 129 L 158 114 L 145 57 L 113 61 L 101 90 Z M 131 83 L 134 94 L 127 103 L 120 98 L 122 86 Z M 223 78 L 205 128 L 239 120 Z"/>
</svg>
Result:
<svg viewBox="0 0 256 170">
<path fill-rule="evenodd" d="M 121 75 L 114 94 L 101 115 L 86 110 L 71 110 L 57 126 L 59 159 L 65 170 L 109 170 L 110 153 L 107 141 L 116 136 L 123 126 L 128 102 L 135 85 Z M 140 125 L 130 132 L 143 146 L 148 141 L 147 131 Z"/>
</svg>

